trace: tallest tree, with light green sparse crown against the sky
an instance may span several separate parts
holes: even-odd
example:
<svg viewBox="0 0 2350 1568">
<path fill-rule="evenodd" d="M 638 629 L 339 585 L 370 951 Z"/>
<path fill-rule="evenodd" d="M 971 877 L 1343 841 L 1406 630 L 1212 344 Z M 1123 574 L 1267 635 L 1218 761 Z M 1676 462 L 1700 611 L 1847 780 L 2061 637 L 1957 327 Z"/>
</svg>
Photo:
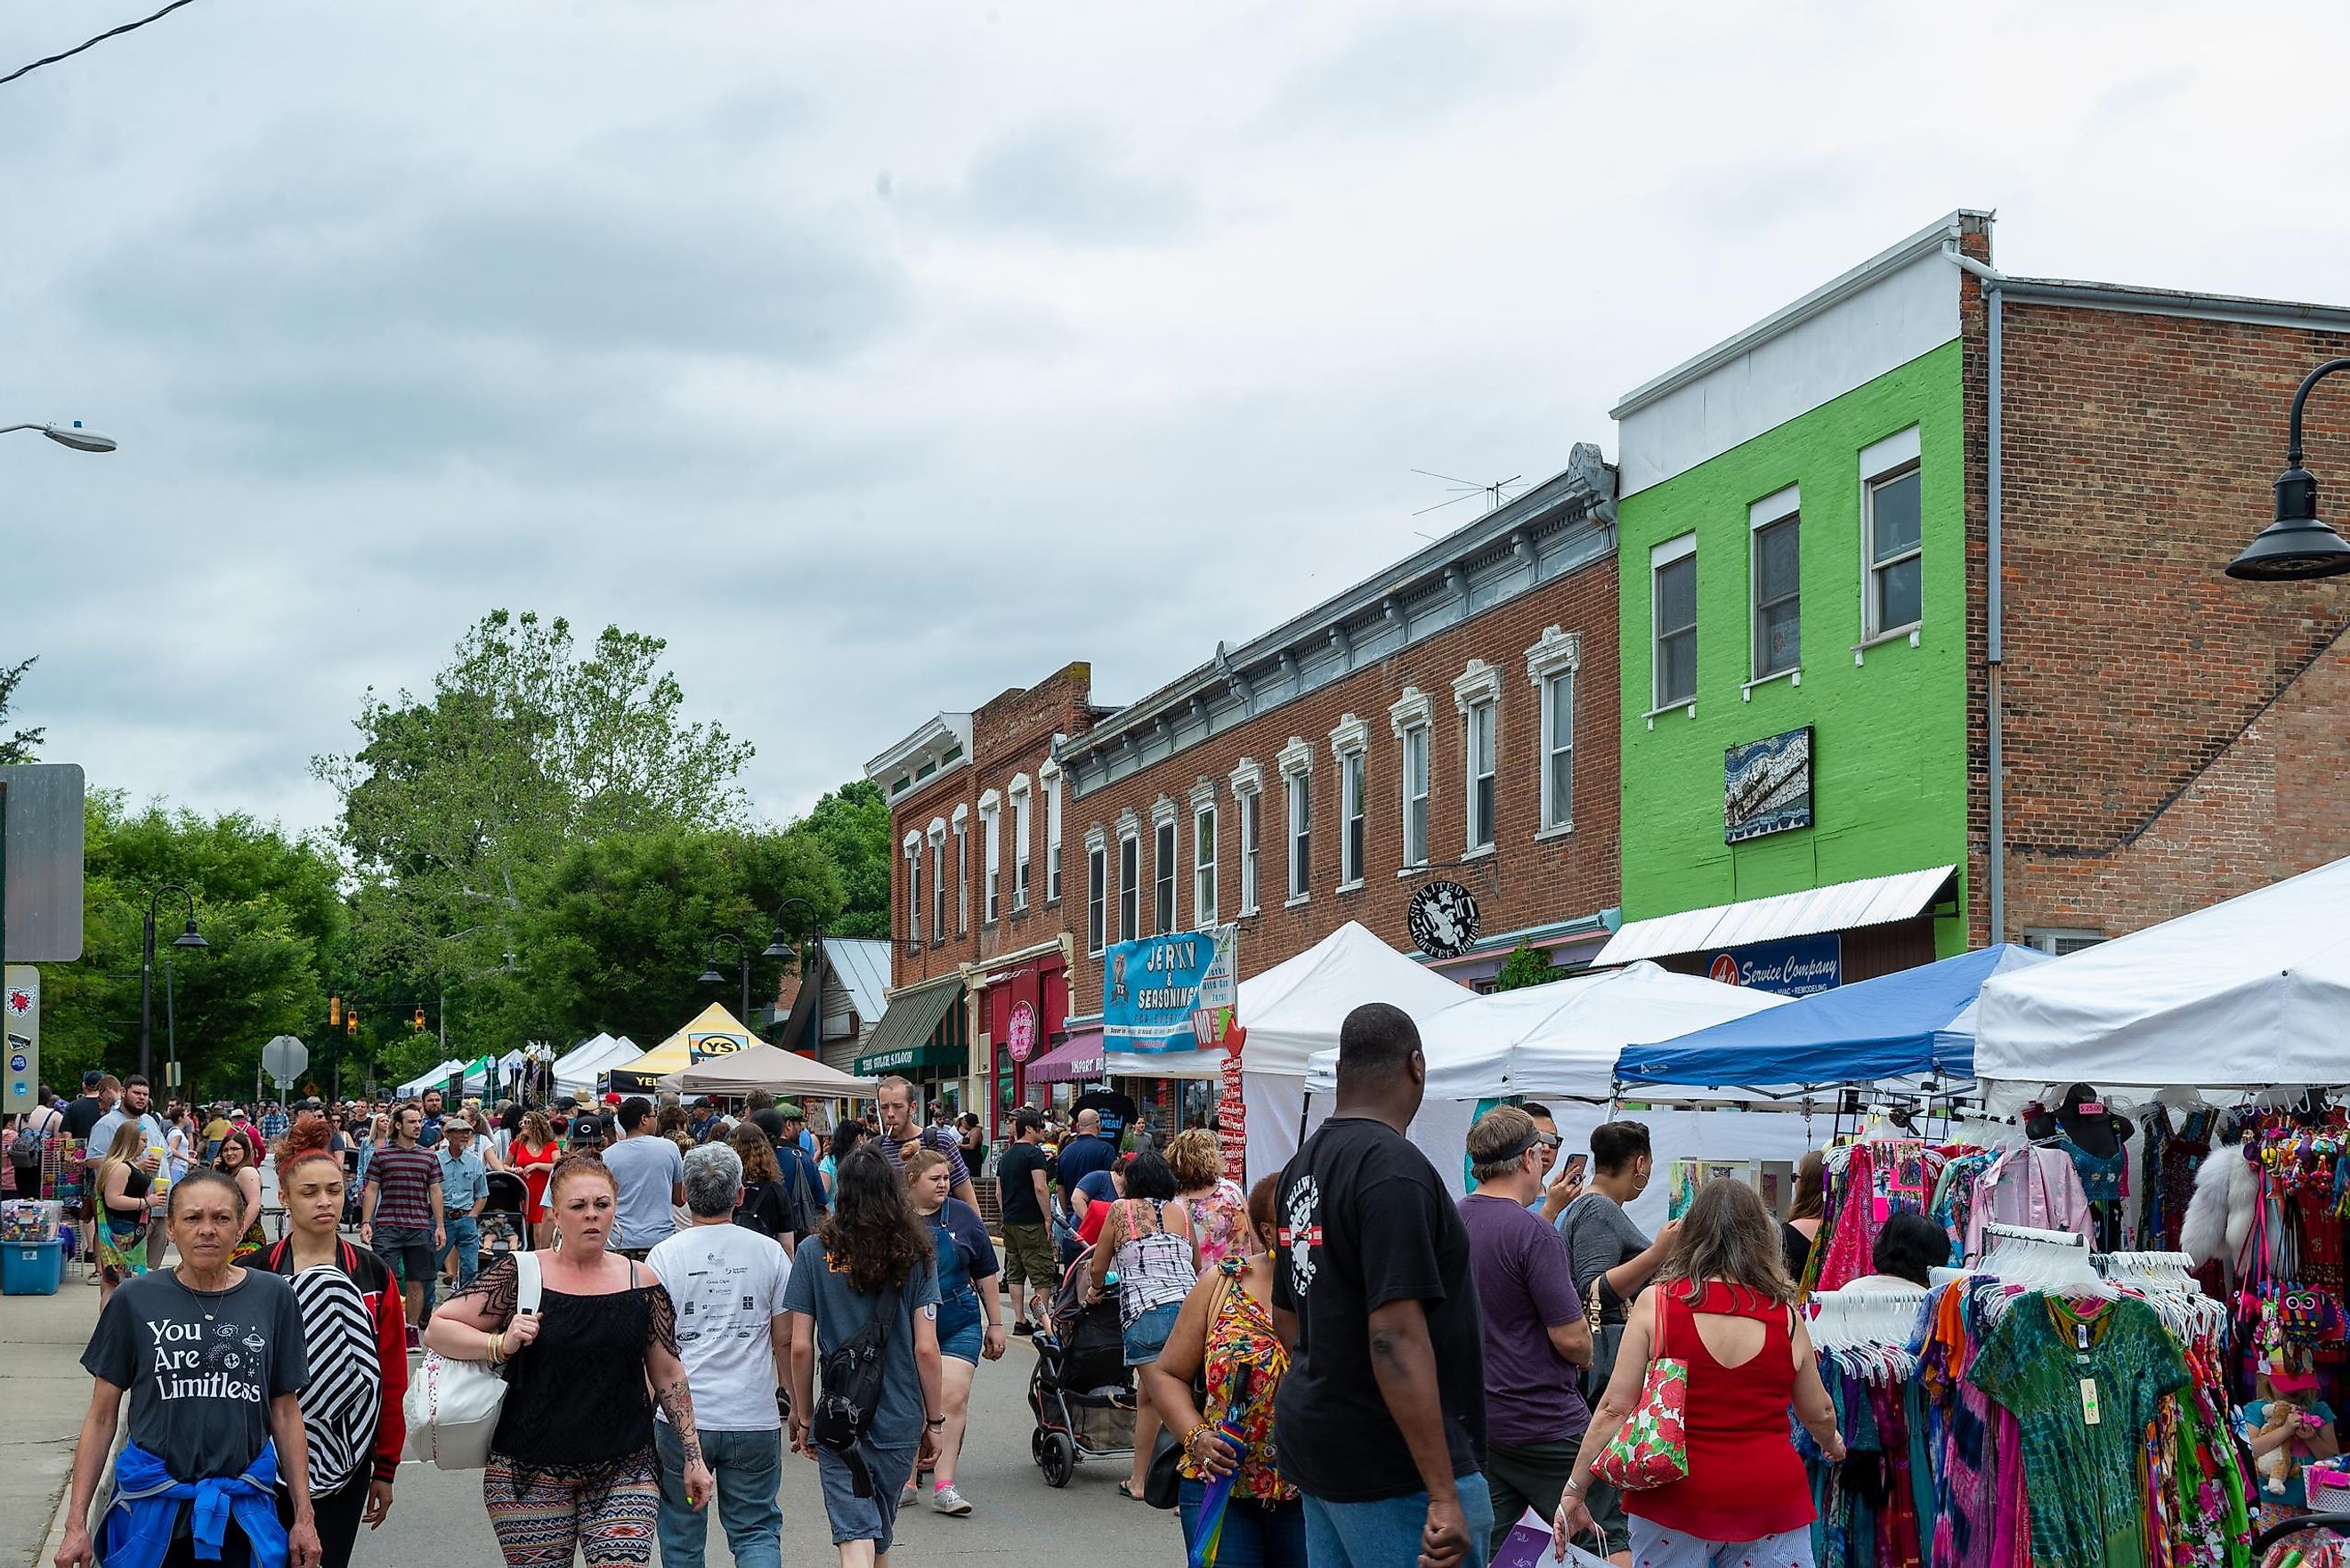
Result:
<svg viewBox="0 0 2350 1568">
<path fill-rule="evenodd" d="M 684 717 L 658 637 L 491 611 L 430 696 L 367 693 L 350 757 L 310 769 L 343 802 L 360 882 L 352 966 L 439 994 L 498 971 L 545 910 L 548 879 L 611 832 L 738 827 L 752 748 Z"/>
</svg>

